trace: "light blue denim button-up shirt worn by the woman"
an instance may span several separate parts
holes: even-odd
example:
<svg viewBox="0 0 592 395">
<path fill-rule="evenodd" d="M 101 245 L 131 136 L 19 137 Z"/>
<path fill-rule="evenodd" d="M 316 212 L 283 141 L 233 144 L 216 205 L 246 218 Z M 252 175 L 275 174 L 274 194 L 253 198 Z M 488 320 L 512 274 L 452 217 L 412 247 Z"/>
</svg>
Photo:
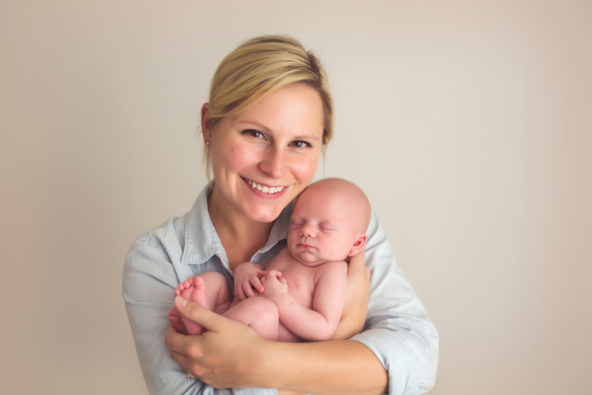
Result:
<svg viewBox="0 0 592 395">
<path fill-rule="evenodd" d="M 144 380 L 152 395 L 277 395 L 274 389 L 218 390 L 187 373 L 169 357 L 165 332 L 169 326 L 173 291 L 181 281 L 202 272 L 226 276 L 233 290 L 233 272 L 220 242 L 207 203 L 208 187 L 189 213 L 172 217 L 138 237 L 123 269 L 123 298 Z M 253 264 L 269 261 L 288 237 L 294 203 L 284 208 L 272 226 L 265 246 L 253 255 Z M 422 302 L 395 262 L 376 214 L 368 227 L 366 266 L 371 271 L 368 318 L 352 340 L 366 345 L 388 370 L 388 393 L 411 395 L 433 387 L 438 363 L 438 335 Z"/>
</svg>

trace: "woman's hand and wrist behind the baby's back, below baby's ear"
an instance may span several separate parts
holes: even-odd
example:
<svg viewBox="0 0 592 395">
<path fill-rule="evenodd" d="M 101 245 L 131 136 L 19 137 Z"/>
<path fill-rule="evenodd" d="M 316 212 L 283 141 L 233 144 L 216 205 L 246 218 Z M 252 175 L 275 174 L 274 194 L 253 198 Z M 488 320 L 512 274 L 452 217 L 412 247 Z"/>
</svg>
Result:
<svg viewBox="0 0 592 395">
<path fill-rule="evenodd" d="M 353 255 L 348 265 L 348 298 L 332 340 L 347 340 L 361 333 L 368 316 L 370 271 L 364 265 L 364 251 Z"/>
</svg>

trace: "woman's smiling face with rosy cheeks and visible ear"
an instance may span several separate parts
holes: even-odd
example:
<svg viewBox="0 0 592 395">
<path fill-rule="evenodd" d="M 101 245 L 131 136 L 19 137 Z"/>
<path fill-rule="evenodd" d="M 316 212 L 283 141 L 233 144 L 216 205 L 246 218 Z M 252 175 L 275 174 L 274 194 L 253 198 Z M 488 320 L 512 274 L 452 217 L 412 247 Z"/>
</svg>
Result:
<svg viewBox="0 0 592 395">
<path fill-rule="evenodd" d="M 322 137 L 320 95 L 304 84 L 284 86 L 204 133 L 216 187 L 259 222 L 275 220 L 308 185 Z"/>
</svg>

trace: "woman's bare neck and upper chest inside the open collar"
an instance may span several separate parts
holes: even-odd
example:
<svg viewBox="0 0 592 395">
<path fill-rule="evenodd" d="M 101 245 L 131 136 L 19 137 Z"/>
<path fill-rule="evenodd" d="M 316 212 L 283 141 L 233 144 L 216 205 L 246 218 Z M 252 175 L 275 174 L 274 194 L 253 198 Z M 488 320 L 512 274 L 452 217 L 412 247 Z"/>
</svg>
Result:
<svg viewBox="0 0 592 395">
<path fill-rule="evenodd" d="M 208 212 L 232 271 L 243 262 L 249 262 L 255 252 L 265 245 L 274 224 L 247 218 L 230 203 L 218 185 L 214 185 L 214 191 L 208 198 Z"/>
</svg>

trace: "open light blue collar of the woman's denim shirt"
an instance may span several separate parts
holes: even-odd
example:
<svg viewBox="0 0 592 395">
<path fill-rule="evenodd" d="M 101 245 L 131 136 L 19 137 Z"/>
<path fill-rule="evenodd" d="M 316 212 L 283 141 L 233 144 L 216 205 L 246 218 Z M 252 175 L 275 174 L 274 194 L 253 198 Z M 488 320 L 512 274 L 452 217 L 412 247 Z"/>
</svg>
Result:
<svg viewBox="0 0 592 395">
<path fill-rule="evenodd" d="M 228 257 L 222 246 L 220 237 L 214 229 L 214 224 L 208 212 L 208 191 L 210 185 L 201 190 L 197 200 L 186 214 L 185 219 L 185 248 L 181 258 L 182 264 L 202 264 L 213 255 L 217 255 L 220 261 L 229 269 Z M 290 217 L 294 211 L 295 200 L 288 204 L 274 221 L 269 232 L 269 238 L 261 249 L 255 253 L 263 253 L 275 246 L 279 240 L 288 238 Z M 255 256 L 253 255 L 253 256 Z"/>
</svg>

